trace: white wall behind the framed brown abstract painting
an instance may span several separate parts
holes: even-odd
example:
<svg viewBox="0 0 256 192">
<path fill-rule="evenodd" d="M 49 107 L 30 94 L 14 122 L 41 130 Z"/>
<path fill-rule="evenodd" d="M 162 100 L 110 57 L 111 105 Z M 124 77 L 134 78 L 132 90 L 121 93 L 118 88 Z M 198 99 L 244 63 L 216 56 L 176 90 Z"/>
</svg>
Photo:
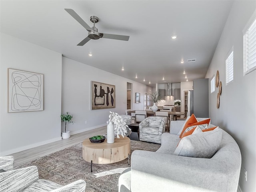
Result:
<svg viewBox="0 0 256 192">
<path fill-rule="evenodd" d="M 74 124 L 68 124 L 71 134 L 102 127 L 108 121 L 109 111 L 125 114 L 127 82 L 132 83 L 131 109 L 144 109 L 147 86 L 130 79 L 108 73 L 90 65 L 62 57 L 62 113 L 74 115 Z M 116 108 L 91 110 L 91 81 L 116 86 Z M 135 103 L 135 93 L 140 93 L 141 103 Z M 85 121 L 87 123 L 85 124 Z M 62 129 L 64 123 L 62 124 Z"/>
</svg>

